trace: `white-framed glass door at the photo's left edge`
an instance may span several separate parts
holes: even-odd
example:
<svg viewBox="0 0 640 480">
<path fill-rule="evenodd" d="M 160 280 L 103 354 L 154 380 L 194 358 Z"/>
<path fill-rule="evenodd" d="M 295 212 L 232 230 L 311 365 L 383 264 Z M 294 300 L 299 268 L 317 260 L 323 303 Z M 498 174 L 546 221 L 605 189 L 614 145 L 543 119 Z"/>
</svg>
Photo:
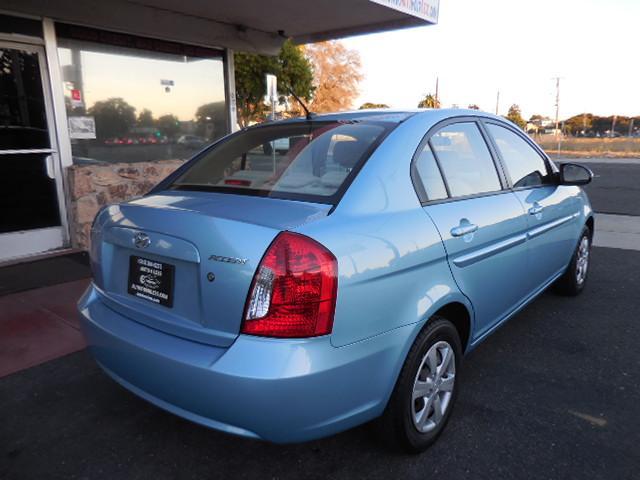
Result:
<svg viewBox="0 0 640 480">
<path fill-rule="evenodd" d="M 0 41 L 0 262 L 64 244 L 44 49 Z"/>
</svg>

